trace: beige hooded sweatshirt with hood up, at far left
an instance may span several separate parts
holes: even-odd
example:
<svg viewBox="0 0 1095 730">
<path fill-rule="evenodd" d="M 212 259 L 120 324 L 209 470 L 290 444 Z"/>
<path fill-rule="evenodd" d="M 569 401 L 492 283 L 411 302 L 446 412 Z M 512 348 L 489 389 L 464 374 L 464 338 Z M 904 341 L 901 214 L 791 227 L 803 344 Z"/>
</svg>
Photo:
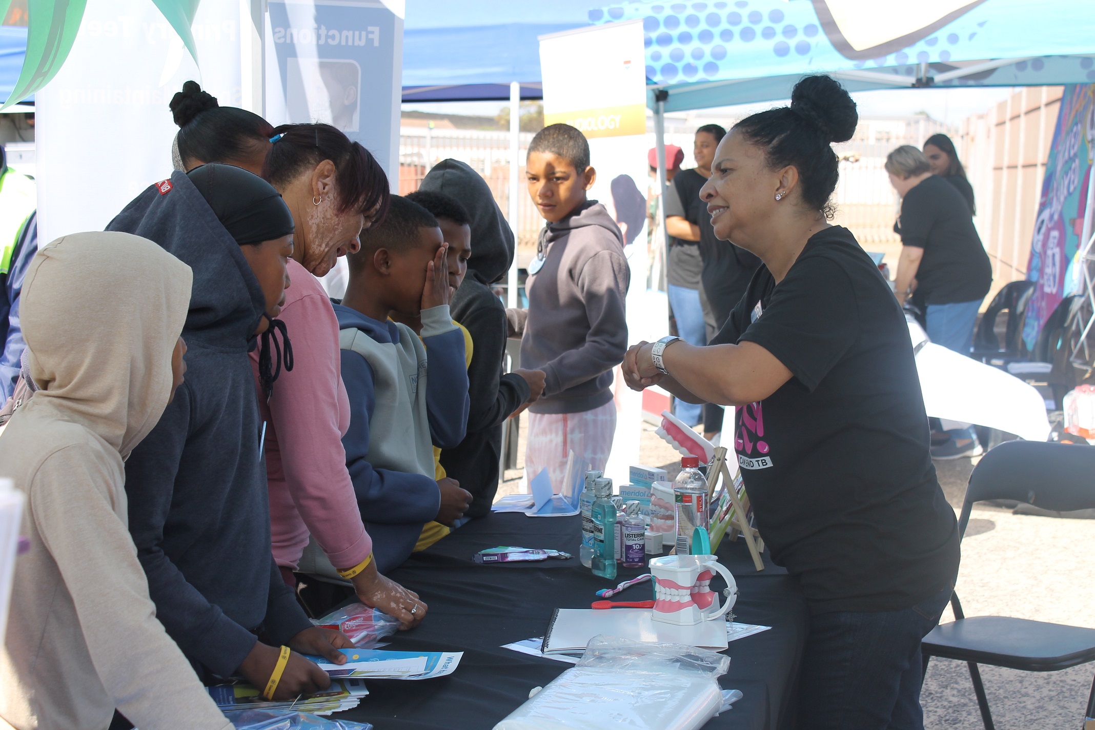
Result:
<svg viewBox="0 0 1095 730">
<path fill-rule="evenodd" d="M 0 649 L 4 727 L 103 730 L 115 707 L 143 730 L 232 727 L 155 619 L 126 529 L 123 460 L 168 404 L 189 290 L 184 264 L 123 233 L 54 241 L 26 274 L 42 390 L 0 439 L 31 543 Z"/>
</svg>

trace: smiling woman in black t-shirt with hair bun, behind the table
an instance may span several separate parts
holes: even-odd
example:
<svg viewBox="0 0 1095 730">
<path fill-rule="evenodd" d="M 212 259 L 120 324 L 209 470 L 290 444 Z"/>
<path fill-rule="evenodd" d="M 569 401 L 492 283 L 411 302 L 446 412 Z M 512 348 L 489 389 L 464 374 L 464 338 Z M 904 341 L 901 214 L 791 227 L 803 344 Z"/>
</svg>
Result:
<svg viewBox="0 0 1095 730">
<path fill-rule="evenodd" d="M 627 351 L 634 390 L 738 406 L 734 445 L 757 526 L 809 609 L 804 727 L 923 728 L 920 641 L 958 571 L 958 530 L 929 453 L 901 308 L 831 225 L 857 115 L 826 76 L 738 123 L 700 195 L 715 234 L 762 266 L 706 347 Z"/>
</svg>

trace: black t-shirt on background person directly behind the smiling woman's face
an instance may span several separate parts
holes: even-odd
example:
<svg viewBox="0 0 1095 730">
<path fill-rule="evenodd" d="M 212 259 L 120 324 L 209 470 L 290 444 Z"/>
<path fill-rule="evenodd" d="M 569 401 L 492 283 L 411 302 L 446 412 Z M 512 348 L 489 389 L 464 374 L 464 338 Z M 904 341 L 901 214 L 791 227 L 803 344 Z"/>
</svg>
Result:
<svg viewBox="0 0 1095 730">
<path fill-rule="evenodd" d="M 707 298 L 717 326 L 722 326 L 730 310 L 741 299 L 760 259 L 745 248 L 715 237 L 711 225 L 707 204 L 700 199 L 700 188 L 707 178 L 695 170 L 684 170 L 673 177 L 679 207 L 671 208 L 673 200 L 666 200 L 667 216 L 681 216 L 700 228 L 700 256 L 703 259 L 703 292 Z"/>
</svg>

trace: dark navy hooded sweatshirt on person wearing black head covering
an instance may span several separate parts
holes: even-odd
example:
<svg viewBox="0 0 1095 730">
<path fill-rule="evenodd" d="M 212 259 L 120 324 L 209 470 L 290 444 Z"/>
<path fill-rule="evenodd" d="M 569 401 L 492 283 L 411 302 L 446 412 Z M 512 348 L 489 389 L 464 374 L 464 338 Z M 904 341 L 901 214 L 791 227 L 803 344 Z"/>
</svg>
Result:
<svg viewBox="0 0 1095 730">
<path fill-rule="evenodd" d="M 183 652 L 230 676 L 260 627 L 275 646 L 311 626 L 270 553 L 262 421 L 247 351 L 266 308 L 240 245 L 175 172 L 111 221 L 194 269 L 186 382 L 126 462 L 129 531 L 157 614 Z"/>
</svg>

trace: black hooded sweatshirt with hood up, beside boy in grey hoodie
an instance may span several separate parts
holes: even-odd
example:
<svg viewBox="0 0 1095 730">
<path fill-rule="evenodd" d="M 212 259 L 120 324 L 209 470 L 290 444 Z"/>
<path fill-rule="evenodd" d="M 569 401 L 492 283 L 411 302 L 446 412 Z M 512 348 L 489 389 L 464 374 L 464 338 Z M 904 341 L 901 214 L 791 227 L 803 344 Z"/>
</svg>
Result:
<svg viewBox="0 0 1095 730">
<path fill-rule="evenodd" d="M 452 318 L 468 329 L 474 344 L 468 367 L 468 434 L 454 449 L 441 451 L 441 466 L 472 494 L 465 517 L 480 518 L 491 511 L 498 490 L 502 425 L 529 399 L 528 382 L 503 372 L 506 308 L 491 289 L 514 260 L 514 232 L 483 176 L 459 160 L 435 165 L 420 189 L 456 198 L 472 217 L 468 275 L 450 304 Z"/>
</svg>

